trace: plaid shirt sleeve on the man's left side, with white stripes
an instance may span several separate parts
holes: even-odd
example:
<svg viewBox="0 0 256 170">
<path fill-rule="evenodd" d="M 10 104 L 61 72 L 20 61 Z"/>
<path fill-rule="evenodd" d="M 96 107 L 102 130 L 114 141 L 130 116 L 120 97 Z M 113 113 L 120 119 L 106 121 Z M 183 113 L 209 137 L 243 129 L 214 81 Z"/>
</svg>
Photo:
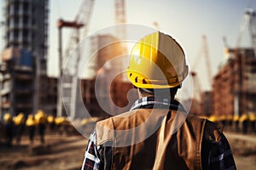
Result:
<svg viewBox="0 0 256 170">
<path fill-rule="evenodd" d="M 94 132 L 90 134 L 81 170 L 97 170 L 100 168 L 101 163 L 98 149 L 96 147 L 96 132 Z"/>
</svg>

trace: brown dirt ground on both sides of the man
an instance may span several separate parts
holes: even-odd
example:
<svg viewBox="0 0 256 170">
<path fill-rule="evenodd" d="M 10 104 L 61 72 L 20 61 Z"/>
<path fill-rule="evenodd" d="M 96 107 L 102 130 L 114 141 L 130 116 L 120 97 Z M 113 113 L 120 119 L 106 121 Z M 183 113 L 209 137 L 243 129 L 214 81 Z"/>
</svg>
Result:
<svg viewBox="0 0 256 170">
<path fill-rule="evenodd" d="M 233 149 L 238 169 L 253 170 L 256 167 L 256 135 L 225 133 Z M 83 136 L 50 134 L 45 144 L 38 137 L 30 145 L 23 137 L 20 145 L 8 148 L 0 145 L 0 169 L 46 170 L 80 169 L 87 139 Z"/>
</svg>

